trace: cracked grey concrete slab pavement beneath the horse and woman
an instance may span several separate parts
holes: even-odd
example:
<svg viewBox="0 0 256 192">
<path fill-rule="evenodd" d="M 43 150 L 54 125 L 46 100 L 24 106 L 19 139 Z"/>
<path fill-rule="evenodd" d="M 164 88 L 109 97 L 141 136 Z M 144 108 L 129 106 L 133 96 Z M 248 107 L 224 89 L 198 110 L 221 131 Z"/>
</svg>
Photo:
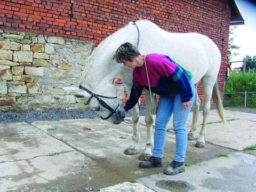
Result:
<svg viewBox="0 0 256 192">
<path fill-rule="evenodd" d="M 255 150 L 242 151 L 256 144 L 256 115 L 228 110 L 225 114 L 230 127 L 217 123 L 220 118 L 211 111 L 206 147 L 198 149 L 194 147 L 196 141 L 189 141 L 186 162 L 192 166 L 175 176 L 164 175 L 164 167 L 138 167 L 146 139 L 144 117 L 140 120 L 139 152 L 134 156 L 123 154 L 132 138 L 129 124 L 112 125 L 101 119 L 0 124 L 0 191 L 164 191 L 166 188 L 156 188 L 156 182 L 170 179 L 186 181 L 195 191 L 232 191 L 234 188 L 228 188 L 231 180 L 241 183 L 236 191 L 256 190 Z M 201 112 L 198 125 L 202 118 Z M 192 113 L 188 126 L 191 119 Z M 171 121 L 168 129 L 164 166 L 175 153 Z M 196 136 L 200 129 L 198 126 Z M 227 153 L 229 158 L 220 158 L 219 153 Z M 223 175 L 230 179 L 224 180 Z M 126 183 L 129 179 L 139 183 Z"/>
</svg>

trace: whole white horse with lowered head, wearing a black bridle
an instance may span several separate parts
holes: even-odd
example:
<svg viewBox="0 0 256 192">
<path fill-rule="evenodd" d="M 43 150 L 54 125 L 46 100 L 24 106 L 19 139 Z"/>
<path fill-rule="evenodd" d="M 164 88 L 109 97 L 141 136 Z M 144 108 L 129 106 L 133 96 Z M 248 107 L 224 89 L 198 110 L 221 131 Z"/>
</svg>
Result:
<svg viewBox="0 0 256 192">
<path fill-rule="evenodd" d="M 161 53 L 169 55 L 175 62 L 193 74 L 195 87 L 202 81 L 204 91 L 203 105 L 203 125 L 200 137 L 196 146 L 204 147 L 204 137 L 206 134 L 206 121 L 210 113 L 210 99 L 213 98 L 215 106 L 223 122 L 226 122 L 223 115 L 222 101 L 218 90 L 217 76 L 220 69 L 221 55 L 218 47 L 213 41 L 198 33 L 169 33 L 156 26 L 148 20 L 130 22 L 129 25 L 117 30 L 110 35 L 92 52 L 87 60 L 79 87 L 64 87 L 69 94 L 83 97 L 84 102 L 103 119 L 113 124 L 122 122 L 122 113 L 119 101 L 116 99 L 116 87 L 113 85 L 113 78 L 119 74 L 128 94 L 132 86 L 132 69 L 124 67 L 113 60 L 113 55 L 117 48 L 125 42 L 138 45 L 138 50 L 142 55 L 148 53 Z M 153 140 L 153 116 L 150 113 L 149 92 L 146 94 L 146 116 L 147 140 L 146 147 L 139 159 L 149 158 Z M 106 96 L 107 98 L 103 98 Z M 102 100 L 104 100 L 102 102 Z M 188 133 L 188 139 L 195 139 L 194 132 L 197 129 L 197 118 L 199 111 L 199 98 L 196 94 L 193 105 L 193 123 Z M 132 109 L 132 121 L 135 122 L 139 115 L 138 105 Z M 133 155 L 137 153 L 137 143 L 140 139 L 138 121 L 133 123 L 133 139 L 131 145 L 125 150 L 125 154 Z"/>
</svg>

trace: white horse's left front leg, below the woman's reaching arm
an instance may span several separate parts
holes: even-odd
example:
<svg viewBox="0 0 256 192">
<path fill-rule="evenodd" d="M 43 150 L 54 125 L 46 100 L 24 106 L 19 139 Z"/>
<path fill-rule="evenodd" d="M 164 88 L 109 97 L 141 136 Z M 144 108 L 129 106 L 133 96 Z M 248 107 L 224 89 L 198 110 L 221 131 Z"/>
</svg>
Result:
<svg viewBox="0 0 256 192">
<path fill-rule="evenodd" d="M 139 116 L 139 106 L 138 103 L 132 109 L 132 122 L 135 122 Z M 132 143 L 129 147 L 127 147 L 124 151 L 125 155 L 135 155 L 137 154 L 138 142 L 140 140 L 140 129 L 139 129 L 139 119 L 137 122 L 132 124 L 133 126 L 133 137 Z"/>
</svg>

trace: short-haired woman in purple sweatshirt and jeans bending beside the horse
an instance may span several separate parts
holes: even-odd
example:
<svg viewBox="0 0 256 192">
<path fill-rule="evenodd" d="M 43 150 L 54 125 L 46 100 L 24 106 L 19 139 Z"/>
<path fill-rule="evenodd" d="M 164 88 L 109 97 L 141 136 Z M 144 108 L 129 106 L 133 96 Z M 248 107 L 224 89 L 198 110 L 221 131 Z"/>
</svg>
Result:
<svg viewBox="0 0 256 192">
<path fill-rule="evenodd" d="M 125 111 L 136 105 L 137 94 L 140 97 L 143 88 L 149 90 L 147 71 L 150 90 L 159 95 L 153 156 L 146 162 L 140 162 L 139 166 L 142 168 L 163 166 L 166 125 L 173 114 L 176 151 L 174 160 L 169 167 L 164 169 L 164 173 L 174 175 L 185 171 L 184 162 L 188 142 L 186 123 L 195 98 L 195 86 L 191 81 L 191 73 L 167 55 L 158 53 L 141 55 L 138 49 L 129 42 L 118 47 L 113 59 L 133 69 L 133 86 L 129 100 L 124 106 Z"/>
</svg>

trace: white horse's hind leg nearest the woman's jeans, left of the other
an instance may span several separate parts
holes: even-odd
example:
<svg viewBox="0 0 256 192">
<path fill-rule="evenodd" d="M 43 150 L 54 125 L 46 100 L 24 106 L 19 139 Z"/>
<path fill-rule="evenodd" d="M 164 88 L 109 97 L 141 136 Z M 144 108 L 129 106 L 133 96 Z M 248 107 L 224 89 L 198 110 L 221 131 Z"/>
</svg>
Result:
<svg viewBox="0 0 256 192">
<path fill-rule="evenodd" d="M 195 88 L 196 88 L 196 95 L 195 95 L 195 101 L 194 101 L 194 104 L 193 104 L 193 121 L 192 121 L 192 124 L 191 124 L 191 128 L 190 128 L 190 131 L 188 133 L 188 140 L 189 141 L 192 141 L 192 140 L 195 140 L 196 137 L 195 137 L 195 132 L 197 130 L 197 121 L 198 121 L 198 111 L 199 111 L 199 106 L 200 106 L 200 99 L 198 97 L 198 93 L 197 93 L 197 85 L 198 83 L 195 84 Z"/>
</svg>

